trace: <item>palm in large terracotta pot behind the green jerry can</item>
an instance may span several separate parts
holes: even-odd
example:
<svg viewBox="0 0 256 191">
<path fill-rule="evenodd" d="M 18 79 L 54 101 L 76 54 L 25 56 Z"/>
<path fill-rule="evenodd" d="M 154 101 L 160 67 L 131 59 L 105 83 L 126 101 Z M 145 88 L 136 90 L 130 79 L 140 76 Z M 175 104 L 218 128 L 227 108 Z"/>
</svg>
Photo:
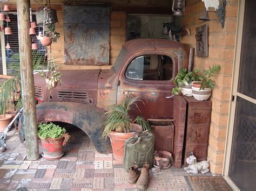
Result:
<svg viewBox="0 0 256 191">
<path fill-rule="evenodd" d="M 122 103 L 113 104 L 105 113 L 103 137 L 110 137 L 113 155 L 116 160 L 123 160 L 125 141 L 139 130 L 151 130 L 150 124 L 142 116 L 132 118 L 129 115 L 132 107 L 138 107 L 137 102 L 143 102 L 140 97 L 126 94 Z"/>
</svg>

